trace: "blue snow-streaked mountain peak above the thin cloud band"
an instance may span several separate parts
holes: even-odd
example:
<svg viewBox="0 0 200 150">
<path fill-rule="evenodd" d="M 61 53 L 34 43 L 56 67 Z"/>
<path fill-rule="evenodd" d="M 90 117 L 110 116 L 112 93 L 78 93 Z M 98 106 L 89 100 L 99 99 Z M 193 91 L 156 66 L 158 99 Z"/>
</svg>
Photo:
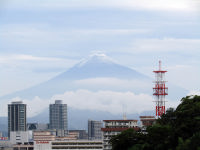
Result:
<svg viewBox="0 0 200 150">
<path fill-rule="evenodd" d="M 148 78 L 133 69 L 114 63 L 105 55 L 93 55 L 88 60 L 81 61 L 73 68 L 55 77 L 53 80 L 97 77 L 114 77 L 124 79 Z"/>
</svg>

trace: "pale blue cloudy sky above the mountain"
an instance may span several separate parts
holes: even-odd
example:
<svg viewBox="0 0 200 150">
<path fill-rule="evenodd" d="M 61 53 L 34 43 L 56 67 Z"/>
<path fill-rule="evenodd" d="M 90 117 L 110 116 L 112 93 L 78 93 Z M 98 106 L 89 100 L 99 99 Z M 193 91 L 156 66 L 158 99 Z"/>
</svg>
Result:
<svg viewBox="0 0 200 150">
<path fill-rule="evenodd" d="M 195 0 L 1 0 L 0 95 L 69 69 L 95 51 L 153 77 L 200 90 Z"/>
</svg>

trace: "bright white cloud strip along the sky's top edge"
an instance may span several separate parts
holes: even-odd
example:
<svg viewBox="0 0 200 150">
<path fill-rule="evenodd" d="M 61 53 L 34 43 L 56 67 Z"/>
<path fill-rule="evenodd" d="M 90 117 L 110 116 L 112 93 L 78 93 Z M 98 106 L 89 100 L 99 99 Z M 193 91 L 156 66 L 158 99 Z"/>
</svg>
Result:
<svg viewBox="0 0 200 150">
<path fill-rule="evenodd" d="M 40 9 L 61 9 L 61 8 L 119 8 L 119 9 L 145 9 L 145 10 L 159 10 L 159 11 L 193 11 L 196 1 L 191 0 L 45 0 L 45 1 L 24 1 L 18 0 L 13 3 L 7 2 L 11 8 L 27 7 Z"/>
</svg>

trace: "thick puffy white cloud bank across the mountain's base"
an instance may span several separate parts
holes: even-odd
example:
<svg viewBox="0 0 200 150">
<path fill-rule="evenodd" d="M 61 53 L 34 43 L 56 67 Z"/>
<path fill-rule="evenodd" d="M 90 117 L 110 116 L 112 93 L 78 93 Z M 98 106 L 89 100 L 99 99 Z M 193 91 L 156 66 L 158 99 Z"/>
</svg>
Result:
<svg viewBox="0 0 200 150">
<path fill-rule="evenodd" d="M 28 116 L 34 116 L 43 109 L 48 108 L 55 100 L 63 100 L 63 103 L 76 109 L 87 109 L 106 111 L 113 114 L 121 114 L 126 108 L 127 114 L 140 113 L 142 111 L 154 110 L 155 103 L 152 96 L 147 94 L 134 94 L 133 92 L 114 92 L 88 90 L 68 91 L 63 94 L 54 95 L 50 100 L 35 97 L 31 100 L 15 98 L 12 101 L 22 100 L 28 107 Z M 176 107 L 179 102 L 168 100 L 167 107 Z M 5 105 L 5 104 L 4 104 Z M 4 106 L 3 104 L 1 106 Z M 5 115 L 5 107 L 1 109 L 1 115 Z"/>
</svg>

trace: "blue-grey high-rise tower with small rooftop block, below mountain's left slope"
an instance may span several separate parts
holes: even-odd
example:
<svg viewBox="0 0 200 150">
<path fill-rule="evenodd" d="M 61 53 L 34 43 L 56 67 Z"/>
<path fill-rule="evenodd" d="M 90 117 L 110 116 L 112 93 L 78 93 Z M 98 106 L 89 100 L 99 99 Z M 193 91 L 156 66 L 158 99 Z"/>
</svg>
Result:
<svg viewBox="0 0 200 150">
<path fill-rule="evenodd" d="M 50 129 L 67 130 L 67 104 L 62 104 L 62 100 L 50 104 L 49 121 Z"/>
</svg>

